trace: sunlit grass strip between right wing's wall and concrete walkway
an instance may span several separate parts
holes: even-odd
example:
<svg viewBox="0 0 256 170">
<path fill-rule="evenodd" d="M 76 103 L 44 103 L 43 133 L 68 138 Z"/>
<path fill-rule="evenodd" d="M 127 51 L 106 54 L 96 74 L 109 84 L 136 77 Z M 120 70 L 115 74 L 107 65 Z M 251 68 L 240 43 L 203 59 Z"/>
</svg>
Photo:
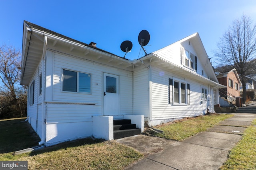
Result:
<svg viewBox="0 0 256 170">
<path fill-rule="evenodd" d="M 164 131 L 164 133 L 149 132 L 149 135 L 171 139 L 176 141 L 183 141 L 188 137 L 194 136 L 199 132 L 206 131 L 210 127 L 217 125 L 224 119 L 232 117 L 230 114 L 211 114 L 199 117 L 192 117 L 181 119 L 163 125 L 156 126 L 157 129 Z"/>
</svg>

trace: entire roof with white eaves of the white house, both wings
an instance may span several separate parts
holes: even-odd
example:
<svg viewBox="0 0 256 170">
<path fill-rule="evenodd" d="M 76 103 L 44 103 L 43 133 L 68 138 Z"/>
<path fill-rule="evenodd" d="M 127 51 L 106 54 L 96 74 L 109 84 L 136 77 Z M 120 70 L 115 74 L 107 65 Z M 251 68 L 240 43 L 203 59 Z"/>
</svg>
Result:
<svg viewBox="0 0 256 170">
<path fill-rule="evenodd" d="M 204 50 L 199 34 L 198 33 L 192 34 L 180 41 L 177 41 L 176 43 L 186 41 L 187 39 L 189 39 L 196 45 L 197 44 L 199 45 L 196 52 L 198 53 L 198 55 L 204 56 L 203 61 L 206 61 L 205 66 L 210 66 L 210 71 L 213 72 L 212 66 L 207 57 L 206 51 Z M 28 21 L 24 21 L 24 25 L 23 25 L 22 75 L 21 75 L 20 84 L 28 85 L 30 83 L 31 78 L 34 76 L 34 73 L 36 72 L 36 68 L 40 63 L 40 60 L 45 56 L 48 45 L 51 44 L 51 47 L 52 47 L 57 42 L 58 43 L 60 42 L 62 43 L 62 45 L 65 45 L 64 47 L 70 48 L 70 51 L 72 51 L 73 49 L 80 50 L 79 52 L 83 52 L 84 55 L 86 56 L 86 59 L 90 59 L 92 61 L 98 61 L 99 59 L 102 59 L 102 62 L 106 62 L 110 66 L 116 66 L 118 68 L 122 68 L 122 69 L 125 68 L 126 70 L 133 71 L 133 70 L 136 70 L 137 68 L 140 68 L 145 63 L 151 64 L 151 62 L 152 63 L 156 62 L 158 64 L 162 64 L 163 66 L 165 66 L 167 70 L 172 69 L 172 72 L 174 72 L 175 74 L 179 74 L 180 76 L 184 76 L 184 78 L 190 78 L 190 79 L 192 78 L 195 81 L 201 82 L 202 84 L 205 84 L 205 85 L 213 86 L 214 88 L 226 87 L 218 83 L 218 80 L 215 74 L 213 74 L 214 76 L 212 76 L 211 72 L 208 73 L 208 75 L 212 77 L 211 78 L 212 80 L 210 80 L 206 77 L 203 77 L 203 76 L 200 76 L 199 74 L 194 73 L 191 70 L 185 70 L 181 66 L 171 63 L 170 61 L 161 59 L 157 55 L 156 53 L 157 51 L 154 53 L 150 53 L 140 59 L 135 59 L 133 61 L 130 61 L 128 59 L 124 59 L 123 57 L 119 57 L 117 55 L 109 53 L 108 51 L 104 51 L 90 44 L 88 45 L 86 43 L 82 43 L 70 37 L 66 37 L 64 35 L 61 35 L 49 29 L 30 23 Z M 87 55 L 88 54 L 87 52 L 92 54 Z M 145 63 L 143 63 L 143 61 L 145 61 Z"/>
</svg>

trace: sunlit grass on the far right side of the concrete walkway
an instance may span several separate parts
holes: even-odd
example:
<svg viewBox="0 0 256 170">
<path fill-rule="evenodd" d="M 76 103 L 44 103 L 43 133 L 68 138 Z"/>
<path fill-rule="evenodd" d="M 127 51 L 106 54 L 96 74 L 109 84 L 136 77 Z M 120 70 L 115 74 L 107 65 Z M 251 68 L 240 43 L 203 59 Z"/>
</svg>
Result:
<svg viewBox="0 0 256 170">
<path fill-rule="evenodd" d="M 244 131 L 242 140 L 230 150 L 220 170 L 256 170 L 256 119 Z"/>
</svg>

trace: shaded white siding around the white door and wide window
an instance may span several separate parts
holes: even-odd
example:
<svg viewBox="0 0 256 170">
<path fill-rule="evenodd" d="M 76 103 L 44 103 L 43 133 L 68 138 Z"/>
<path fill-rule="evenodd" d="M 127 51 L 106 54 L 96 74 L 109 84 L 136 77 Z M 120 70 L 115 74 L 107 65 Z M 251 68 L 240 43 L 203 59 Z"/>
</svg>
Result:
<svg viewBox="0 0 256 170">
<path fill-rule="evenodd" d="M 53 100 L 48 104 L 47 121 L 68 123 L 92 121 L 92 115 L 102 115 L 103 73 L 115 74 L 120 77 L 120 114 L 133 113 L 132 72 L 112 68 L 106 65 L 83 60 L 73 56 L 54 53 Z M 62 91 L 62 70 L 74 70 L 91 75 L 91 94 Z M 51 95 L 51 94 L 49 94 Z M 63 102 L 63 104 L 54 103 Z M 65 104 L 66 103 L 66 104 Z M 72 104 L 74 103 L 74 104 Z M 89 105 L 88 105 L 89 104 Z M 94 105 L 95 104 L 95 105 Z M 73 115 L 73 116 L 72 116 Z"/>
</svg>

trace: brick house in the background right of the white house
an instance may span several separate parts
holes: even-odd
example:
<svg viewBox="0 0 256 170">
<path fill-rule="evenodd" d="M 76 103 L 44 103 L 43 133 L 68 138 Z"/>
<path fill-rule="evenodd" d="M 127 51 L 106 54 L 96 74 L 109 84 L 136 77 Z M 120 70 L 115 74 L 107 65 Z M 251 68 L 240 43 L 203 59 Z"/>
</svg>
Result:
<svg viewBox="0 0 256 170">
<path fill-rule="evenodd" d="M 220 97 L 224 97 L 228 102 L 236 104 L 236 97 L 240 96 L 240 87 L 242 86 L 236 69 L 223 73 L 216 72 L 215 74 L 219 83 L 226 86 L 226 88 L 219 90 Z M 222 102 L 220 102 L 221 104 Z"/>
</svg>

